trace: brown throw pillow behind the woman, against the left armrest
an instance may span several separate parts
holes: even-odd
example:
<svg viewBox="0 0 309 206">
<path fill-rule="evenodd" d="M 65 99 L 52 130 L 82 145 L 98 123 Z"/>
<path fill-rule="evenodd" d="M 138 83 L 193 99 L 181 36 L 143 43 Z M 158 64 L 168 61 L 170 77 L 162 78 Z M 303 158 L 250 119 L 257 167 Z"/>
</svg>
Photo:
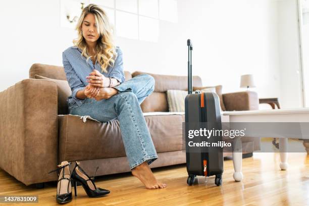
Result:
<svg viewBox="0 0 309 206">
<path fill-rule="evenodd" d="M 58 88 L 58 114 L 69 114 L 67 98 L 72 94 L 71 87 L 68 81 L 59 79 L 50 79 L 40 75 L 34 75 L 35 79 L 45 79 L 53 81 L 57 84 Z"/>
</svg>

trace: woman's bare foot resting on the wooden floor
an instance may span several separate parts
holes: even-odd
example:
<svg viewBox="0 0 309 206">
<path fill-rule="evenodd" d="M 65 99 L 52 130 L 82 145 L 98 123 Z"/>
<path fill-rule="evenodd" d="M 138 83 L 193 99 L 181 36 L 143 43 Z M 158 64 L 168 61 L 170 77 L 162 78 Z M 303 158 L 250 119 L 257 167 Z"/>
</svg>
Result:
<svg viewBox="0 0 309 206">
<path fill-rule="evenodd" d="M 144 162 L 134 169 L 132 169 L 132 175 L 137 177 L 147 189 L 159 189 L 165 188 L 166 184 L 156 180 L 155 176 L 151 172 L 147 162 Z"/>
</svg>

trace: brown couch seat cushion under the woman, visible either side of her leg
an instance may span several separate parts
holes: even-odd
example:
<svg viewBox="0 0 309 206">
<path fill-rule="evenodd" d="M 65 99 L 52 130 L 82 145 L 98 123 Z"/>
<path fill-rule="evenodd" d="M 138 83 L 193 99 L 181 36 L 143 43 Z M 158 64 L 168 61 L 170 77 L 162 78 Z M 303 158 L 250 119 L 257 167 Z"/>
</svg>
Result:
<svg viewBox="0 0 309 206">
<path fill-rule="evenodd" d="M 126 156 L 118 120 L 84 123 L 74 115 L 58 120 L 60 162 Z M 145 120 L 158 153 L 182 150 L 184 115 L 145 116 Z"/>
</svg>

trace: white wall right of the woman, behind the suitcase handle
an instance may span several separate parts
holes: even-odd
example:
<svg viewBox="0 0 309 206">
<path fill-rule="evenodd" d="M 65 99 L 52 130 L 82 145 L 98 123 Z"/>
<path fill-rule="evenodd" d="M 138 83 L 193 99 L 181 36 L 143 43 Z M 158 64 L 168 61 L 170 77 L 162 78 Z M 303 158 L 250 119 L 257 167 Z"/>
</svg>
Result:
<svg viewBox="0 0 309 206">
<path fill-rule="evenodd" d="M 194 2 L 194 3 L 193 3 Z M 280 93 L 277 4 L 273 1 L 178 1 L 178 24 L 160 22 L 159 43 L 118 39 L 129 70 L 187 74 L 186 39 L 193 41 L 193 75 L 204 85 L 239 88 L 242 74 L 254 74 L 260 96 Z M 140 50 L 148 56 L 135 55 Z M 149 64 L 150 62 L 150 64 Z M 271 89 L 270 89 L 271 88 Z"/>
</svg>

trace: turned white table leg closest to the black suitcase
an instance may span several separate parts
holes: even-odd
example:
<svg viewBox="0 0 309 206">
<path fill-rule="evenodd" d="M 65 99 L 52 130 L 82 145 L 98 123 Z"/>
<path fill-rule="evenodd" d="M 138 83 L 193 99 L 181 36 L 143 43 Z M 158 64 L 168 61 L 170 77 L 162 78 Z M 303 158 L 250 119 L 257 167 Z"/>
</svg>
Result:
<svg viewBox="0 0 309 206">
<path fill-rule="evenodd" d="M 233 178 L 235 181 L 239 182 L 242 180 L 242 144 L 241 138 L 235 137 L 233 139 L 233 165 L 234 174 Z"/>
</svg>

